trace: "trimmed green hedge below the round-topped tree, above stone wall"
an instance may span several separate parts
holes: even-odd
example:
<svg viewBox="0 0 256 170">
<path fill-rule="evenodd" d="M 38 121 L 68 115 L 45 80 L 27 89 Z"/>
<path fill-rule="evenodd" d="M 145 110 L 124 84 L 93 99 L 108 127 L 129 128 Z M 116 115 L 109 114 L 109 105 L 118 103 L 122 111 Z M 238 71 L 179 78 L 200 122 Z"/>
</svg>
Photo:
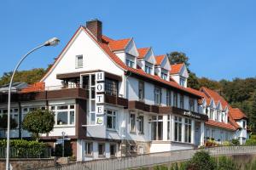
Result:
<svg viewBox="0 0 256 170">
<path fill-rule="evenodd" d="M 0 148 L 6 147 L 6 140 L 0 140 Z M 28 141 L 23 139 L 10 140 L 11 157 L 38 157 L 44 154 L 49 147 L 48 144 L 38 141 Z M 3 157 L 0 155 L 0 157 Z"/>
</svg>

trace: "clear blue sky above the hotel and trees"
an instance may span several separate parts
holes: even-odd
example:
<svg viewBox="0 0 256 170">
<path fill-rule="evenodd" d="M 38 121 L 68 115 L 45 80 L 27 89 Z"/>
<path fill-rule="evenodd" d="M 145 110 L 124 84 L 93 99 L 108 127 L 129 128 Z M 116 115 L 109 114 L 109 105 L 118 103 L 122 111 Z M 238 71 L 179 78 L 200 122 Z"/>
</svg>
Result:
<svg viewBox="0 0 256 170">
<path fill-rule="evenodd" d="M 0 75 L 29 49 L 59 37 L 59 46 L 38 50 L 20 70 L 45 68 L 79 26 L 97 18 L 109 37 L 134 37 L 154 54 L 186 53 L 199 77 L 255 77 L 255 7 L 253 0 L 1 1 Z"/>
</svg>

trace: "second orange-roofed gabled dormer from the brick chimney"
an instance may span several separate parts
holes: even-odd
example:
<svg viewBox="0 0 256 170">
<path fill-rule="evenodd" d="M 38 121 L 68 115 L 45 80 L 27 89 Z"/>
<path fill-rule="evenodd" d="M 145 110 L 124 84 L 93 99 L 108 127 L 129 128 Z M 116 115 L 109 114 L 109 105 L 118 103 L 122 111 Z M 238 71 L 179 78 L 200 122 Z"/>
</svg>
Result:
<svg viewBox="0 0 256 170">
<path fill-rule="evenodd" d="M 154 65 L 156 63 L 152 48 L 139 48 L 137 65 L 148 74 L 154 75 Z"/>
</svg>

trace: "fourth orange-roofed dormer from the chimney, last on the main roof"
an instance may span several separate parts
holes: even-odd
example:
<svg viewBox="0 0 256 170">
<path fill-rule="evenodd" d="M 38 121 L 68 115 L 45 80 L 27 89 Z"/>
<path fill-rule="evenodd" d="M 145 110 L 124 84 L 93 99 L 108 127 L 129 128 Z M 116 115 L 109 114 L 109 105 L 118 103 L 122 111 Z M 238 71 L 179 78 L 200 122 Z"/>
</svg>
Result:
<svg viewBox="0 0 256 170">
<path fill-rule="evenodd" d="M 183 63 L 171 65 L 170 75 L 179 85 L 187 88 L 189 72 Z"/>
</svg>

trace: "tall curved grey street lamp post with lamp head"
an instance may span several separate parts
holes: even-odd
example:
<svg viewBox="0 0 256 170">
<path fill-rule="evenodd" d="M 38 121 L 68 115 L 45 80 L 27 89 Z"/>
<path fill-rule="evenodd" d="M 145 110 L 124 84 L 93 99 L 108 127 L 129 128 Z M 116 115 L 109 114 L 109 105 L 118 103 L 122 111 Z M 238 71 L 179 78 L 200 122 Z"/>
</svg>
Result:
<svg viewBox="0 0 256 170">
<path fill-rule="evenodd" d="M 10 101 L 11 101 L 11 88 L 12 88 L 12 83 L 15 77 L 15 71 L 17 71 L 17 69 L 19 68 L 21 62 L 26 59 L 26 57 L 29 54 L 32 54 L 32 52 L 36 51 L 38 48 L 42 48 L 44 46 L 56 46 L 58 45 L 58 43 L 60 42 L 60 40 L 56 37 L 53 37 L 51 39 L 49 39 L 47 42 L 44 42 L 43 44 L 39 45 L 36 48 L 33 48 L 31 51 L 29 51 L 26 55 L 24 55 L 19 63 L 15 66 L 15 70 L 13 71 L 12 77 L 10 79 L 9 82 L 9 92 L 8 92 L 8 121 L 7 121 L 7 147 L 6 147 L 6 170 L 9 170 L 9 133 L 10 133 Z"/>
</svg>

